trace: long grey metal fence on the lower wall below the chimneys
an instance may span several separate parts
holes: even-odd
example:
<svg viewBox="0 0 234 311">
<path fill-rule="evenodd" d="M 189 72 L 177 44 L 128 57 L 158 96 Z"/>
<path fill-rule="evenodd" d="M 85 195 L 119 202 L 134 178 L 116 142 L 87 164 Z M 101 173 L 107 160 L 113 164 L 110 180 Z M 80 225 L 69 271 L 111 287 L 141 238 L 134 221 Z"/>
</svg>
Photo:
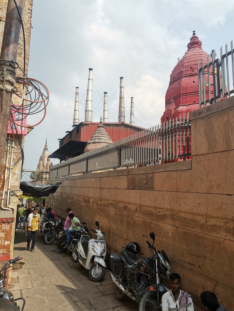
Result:
<svg viewBox="0 0 234 311">
<path fill-rule="evenodd" d="M 51 177 L 162 164 L 191 156 L 188 114 L 50 167 Z"/>
</svg>

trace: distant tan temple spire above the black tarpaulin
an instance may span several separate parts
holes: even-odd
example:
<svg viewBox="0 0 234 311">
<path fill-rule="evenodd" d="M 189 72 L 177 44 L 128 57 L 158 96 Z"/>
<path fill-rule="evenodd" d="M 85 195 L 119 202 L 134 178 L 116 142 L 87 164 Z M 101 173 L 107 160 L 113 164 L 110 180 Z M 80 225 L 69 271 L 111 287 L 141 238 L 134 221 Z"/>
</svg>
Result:
<svg viewBox="0 0 234 311">
<path fill-rule="evenodd" d="M 49 178 L 49 167 L 51 165 L 51 158 L 49 158 L 49 155 L 46 138 L 45 147 L 37 164 L 37 171 L 34 179 L 32 180 L 33 183 L 46 183 L 46 179 Z"/>
</svg>

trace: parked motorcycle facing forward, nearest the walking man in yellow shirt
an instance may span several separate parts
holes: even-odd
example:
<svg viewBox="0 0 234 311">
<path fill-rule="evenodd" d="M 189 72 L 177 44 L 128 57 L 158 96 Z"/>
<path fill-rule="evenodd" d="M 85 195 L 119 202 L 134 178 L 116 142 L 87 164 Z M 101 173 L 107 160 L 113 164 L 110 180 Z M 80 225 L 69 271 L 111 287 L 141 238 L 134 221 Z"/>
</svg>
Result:
<svg viewBox="0 0 234 311">
<path fill-rule="evenodd" d="M 48 219 L 46 221 L 46 224 L 43 230 L 46 244 L 53 243 L 55 239 L 59 241 L 62 231 L 63 231 L 63 225 L 62 225 L 61 219 L 58 219 L 56 222 L 54 222 L 51 219 Z"/>
</svg>

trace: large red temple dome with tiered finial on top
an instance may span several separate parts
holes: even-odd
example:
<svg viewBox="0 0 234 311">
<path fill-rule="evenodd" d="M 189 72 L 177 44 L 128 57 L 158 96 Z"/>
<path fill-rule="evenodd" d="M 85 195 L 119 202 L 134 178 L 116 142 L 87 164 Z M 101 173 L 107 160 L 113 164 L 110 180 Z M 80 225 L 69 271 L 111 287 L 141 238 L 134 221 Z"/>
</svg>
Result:
<svg viewBox="0 0 234 311">
<path fill-rule="evenodd" d="M 199 92 L 198 92 L 198 72 L 197 62 L 207 63 L 207 55 L 202 50 L 202 42 L 197 37 L 195 31 L 188 43 L 188 50 L 184 56 L 178 61 L 173 69 L 169 86 L 165 96 L 165 111 L 161 118 L 161 122 L 169 119 L 183 116 L 183 114 L 199 109 Z M 209 56 L 209 62 L 212 58 Z M 212 70 L 210 70 L 210 81 L 212 83 Z M 211 95 L 213 89 L 211 87 Z"/>
</svg>

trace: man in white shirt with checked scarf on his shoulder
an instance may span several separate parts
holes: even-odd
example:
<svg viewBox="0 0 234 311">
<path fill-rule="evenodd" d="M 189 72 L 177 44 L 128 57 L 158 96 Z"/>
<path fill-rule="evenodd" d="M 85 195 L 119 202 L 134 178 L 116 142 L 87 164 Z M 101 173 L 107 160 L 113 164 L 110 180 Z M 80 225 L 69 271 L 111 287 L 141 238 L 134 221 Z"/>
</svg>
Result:
<svg viewBox="0 0 234 311">
<path fill-rule="evenodd" d="M 162 297 L 162 311 L 194 311 L 192 296 L 180 289 L 179 274 L 172 273 L 169 278 L 171 290 Z"/>
</svg>

